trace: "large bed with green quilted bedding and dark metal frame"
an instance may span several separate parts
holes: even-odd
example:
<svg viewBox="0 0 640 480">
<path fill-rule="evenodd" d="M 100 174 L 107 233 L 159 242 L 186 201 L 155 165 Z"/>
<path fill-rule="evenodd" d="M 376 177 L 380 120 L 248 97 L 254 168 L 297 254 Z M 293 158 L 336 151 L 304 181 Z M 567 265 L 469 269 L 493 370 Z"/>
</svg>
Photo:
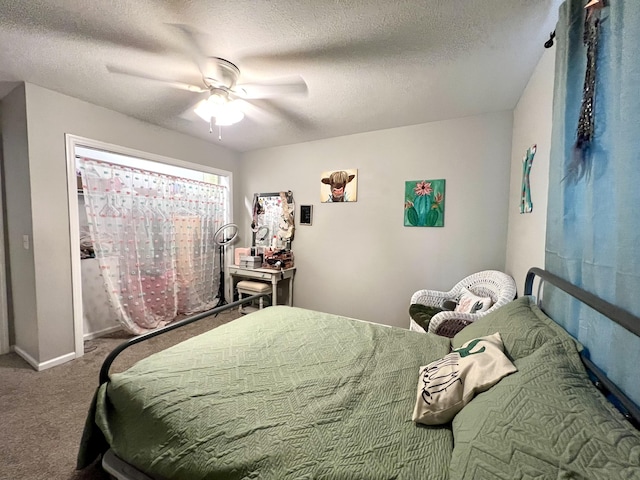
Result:
<svg viewBox="0 0 640 480">
<path fill-rule="evenodd" d="M 535 276 L 567 289 L 532 269 L 529 295 Z M 118 479 L 640 479 L 636 405 L 529 295 L 452 339 L 277 306 L 122 373 L 107 359 L 78 468 L 102 456 Z M 496 332 L 513 370 L 451 421 L 414 422 L 422 367 Z"/>
</svg>

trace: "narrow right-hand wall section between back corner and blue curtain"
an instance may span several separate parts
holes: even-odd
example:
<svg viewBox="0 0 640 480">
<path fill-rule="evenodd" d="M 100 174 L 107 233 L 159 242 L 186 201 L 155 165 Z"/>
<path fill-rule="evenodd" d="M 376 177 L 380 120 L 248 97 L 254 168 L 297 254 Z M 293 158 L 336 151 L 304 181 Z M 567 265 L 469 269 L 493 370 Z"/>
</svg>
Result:
<svg viewBox="0 0 640 480">
<path fill-rule="evenodd" d="M 554 70 L 555 49 L 545 50 L 513 113 L 506 272 L 515 278 L 519 295 L 527 270 L 544 268 Z M 521 214 L 522 158 L 534 144 L 537 151 L 530 174 L 533 211 Z"/>
</svg>

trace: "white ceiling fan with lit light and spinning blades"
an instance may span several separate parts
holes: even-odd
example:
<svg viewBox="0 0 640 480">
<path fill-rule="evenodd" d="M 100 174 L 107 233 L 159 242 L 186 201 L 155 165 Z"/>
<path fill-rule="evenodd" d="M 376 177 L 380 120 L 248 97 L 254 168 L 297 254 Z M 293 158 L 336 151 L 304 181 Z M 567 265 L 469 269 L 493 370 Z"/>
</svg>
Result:
<svg viewBox="0 0 640 480">
<path fill-rule="evenodd" d="M 306 94 L 307 84 L 299 76 L 290 76 L 272 81 L 239 84 L 240 69 L 224 58 L 209 57 L 202 53 L 194 38 L 194 32 L 186 25 L 173 25 L 186 37 L 190 46 L 190 54 L 202 75 L 201 85 L 192 85 L 154 76 L 146 72 L 128 70 L 112 65 L 107 66 L 111 73 L 129 75 L 146 80 L 160 82 L 172 88 L 186 90 L 196 94 L 206 94 L 187 111 L 195 112 L 200 118 L 218 127 L 233 125 L 244 118 L 245 111 L 256 116 L 268 115 L 264 112 L 264 99 L 273 99 L 285 95 Z M 257 105 L 253 100 L 261 100 Z M 183 115 L 183 118 L 185 116 Z"/>
</svg>

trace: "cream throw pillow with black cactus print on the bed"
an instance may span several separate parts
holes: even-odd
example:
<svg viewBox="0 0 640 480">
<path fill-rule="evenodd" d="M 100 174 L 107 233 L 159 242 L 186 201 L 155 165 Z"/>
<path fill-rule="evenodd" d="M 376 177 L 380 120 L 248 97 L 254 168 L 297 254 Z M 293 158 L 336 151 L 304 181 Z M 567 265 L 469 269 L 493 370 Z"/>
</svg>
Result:
<svg viewBox="0 0 640 480">
<path fill-rule="evenodd" d="M 504 354 L 500 333 L 475 338 L 450 354 L 420 367 L 418 398 L 412 420 L 425 425 L 447 423 L 476 393 L 517 371 Z"/>
</svg>

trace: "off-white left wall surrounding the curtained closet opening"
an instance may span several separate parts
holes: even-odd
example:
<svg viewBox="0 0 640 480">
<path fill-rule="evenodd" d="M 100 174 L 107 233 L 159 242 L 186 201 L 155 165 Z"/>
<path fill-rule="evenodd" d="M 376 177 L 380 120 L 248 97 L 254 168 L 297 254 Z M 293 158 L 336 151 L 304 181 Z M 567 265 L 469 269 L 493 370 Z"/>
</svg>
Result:
<svg viewBox="0 0 640 480">
<path fill-rule="evenodd" d="M 27 230 L 28 225 L 12 225 L 12 215 L 31 219 L 32 258 L 26 262 L 34 265 L 35 277 L 24 290 L 14 287 L 13 303 L 18 347 L 23 344 L 26 346 L 27 342 L 17 335 L 19 325 L 28 321 L 20 314 L 20 309 L 35 306 L 37 351 L 32 352 L 30 343 L 33 332 L 30 332 L 28 346 L 33 359 L 43 363 L 67 355 L 74 349 L 70 256 L 77 255 L 77 252 L 71 252 L 70 248 L 65 133 L 217 167 L 233 174 L 238 170 L 238 155 L 217 145 L 146 124 L 36 85 L 26 84 L 25 94 L 31 206 L 12 206 L 7 202 L 7 207 L 13 211 L 9 214 L 8 228 L 10 235 L 21 238 L 22 230 Z M 5 151 L 7 165 L 15 166 L 16 162 L 22 161 L 25 159 Z M 26 168 L 22 167 L 22 170 Z M 19 173 L 7 174 L 7 183 L 24 182 Z M 17 257 L 23 254 L 19 248 L 11 246 L 12 271 L 21 269 L 24 263 Z"/>
</svg>

